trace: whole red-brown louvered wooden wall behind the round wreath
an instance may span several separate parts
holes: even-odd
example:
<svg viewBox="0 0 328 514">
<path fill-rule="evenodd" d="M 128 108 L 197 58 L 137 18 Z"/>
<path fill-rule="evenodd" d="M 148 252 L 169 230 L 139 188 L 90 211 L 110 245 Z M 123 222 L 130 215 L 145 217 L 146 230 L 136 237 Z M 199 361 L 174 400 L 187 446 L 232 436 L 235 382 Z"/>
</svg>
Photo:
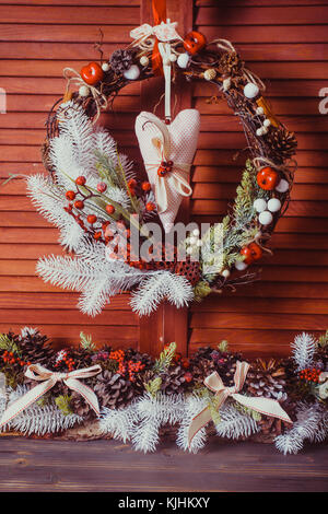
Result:
<svg viewBox="0 0 328 514">
<path fill-rule="evenodd" d="M 181 33 L 191 26 L 190 3 L 168 1 Z M 93 44 L 99 27 L 105 55 L 127 44 L 130 30 L 151 20 L 149 7 L 149 0 L 0 0 L 0 87 L 8 98 L 8 113 L 0 114 L 1 178 L 42 170 L 44 122 L 63 91 L 62 68 L 79 70 L 97 59 Z M 62 346 L 75 343 L 83 330 L 99 343 L 153 351 L 176 338 L 184 352 L 229 339 L 246 353 L 282 354 L 295 334 L 328 326 L 328 115 L 318 112 L 318 92 L 328 86 L 328 0 L 197 0 L 194 22 L 209 39 L 235 44 L 266 81 L 276 113 L 297 135 L 296 184 L 272 237 L 274 256 L 261 262 L 262 280 L 189 312 L 164 306 L 140 323 L 127 295 L 89 318 L 75 308 L 74 293 L 35 276 L 39 256 L 60 254 L 58 234 L 25 198 L 24 182 L 15 179 L 0 190 L 1 331 L 38 326 Z M 133 122 L 141 108 L 152 109 L 149 92 L 149 84 L 132 84 L 117 98 L 116 114 L 102 117 L 136 161 Z M 201 83 L 181 92 L 181 107 L 194 105 L 202 115 L 194 196 L 186 209 L 199 222 L 216 221 L 235 195 L 243 160 L 233 163 L 232 156 L 245 140 L 223 102 L 206 102 L 215 94 L 212 89 Z"/>
</svg>

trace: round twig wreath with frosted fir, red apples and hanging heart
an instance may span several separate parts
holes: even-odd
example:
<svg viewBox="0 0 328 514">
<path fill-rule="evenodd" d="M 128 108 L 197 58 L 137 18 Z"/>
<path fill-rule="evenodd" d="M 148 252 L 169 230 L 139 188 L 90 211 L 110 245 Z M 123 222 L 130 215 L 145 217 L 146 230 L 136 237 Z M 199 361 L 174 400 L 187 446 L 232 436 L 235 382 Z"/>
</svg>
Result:
<svg viewBox="0 0 328 514">
<path fill-rule="evenodd" d="M 127 290 L 132 291 L 133 311 L 144 315 L 164 299 L 181 307 L 255 280 L 256 273 L 245 270 L 271 253 L 266 245 L 293 184 L 294 133 L 272 114 L 263 83 L 233 45 L 207 43 L 196 31 L 183 38 L 176 23 L 156 9 L 154 13 L 155 26 L 134 28 L 132 43 L 109 59 L 102 52 L 99 62 L 80 72 L 65 69 L 67 90 L 48 116 L 43 145 L 49 174 L 27 179 L 33 202 L 59 227 L 60 244 L 73 254 L 40 258 L 37 272 L 45 281 L 81 292 L 79 306 L 90 315 Z M 165 79 L 165 119 L 145 112 L 137 117 L 148 175 L 141 178 L 95 122 L 122 87 L 156 74 Z M 222 223 L 190 223 L 175 237 L 181 199 L 192 192 L 189 173 L 199 131 L 196 109 L 172 119 L 171 86 L 178 75 L 213 84 L 238 117 L 249 156 Z M 72 92 L 71 84 L 78 90 Z M 160 233 L 153 231 L 157 219 L 164 229 Z"/>
</svg>

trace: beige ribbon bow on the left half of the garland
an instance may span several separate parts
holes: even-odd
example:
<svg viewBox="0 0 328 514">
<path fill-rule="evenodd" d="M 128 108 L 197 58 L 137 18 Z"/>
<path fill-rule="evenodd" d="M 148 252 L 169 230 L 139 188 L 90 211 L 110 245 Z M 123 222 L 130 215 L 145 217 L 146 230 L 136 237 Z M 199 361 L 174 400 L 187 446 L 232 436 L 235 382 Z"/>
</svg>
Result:
<svg viewBox="0 0 328 514">
<path fill-rule="evenodd" d="M 95 413 L 99 416 L 99 406 L 96 395 L 90 387 L 87 387 L 85 384 L 82 384 L 82 382 L 80 382 L 78 378 L 89 378 L 90 376 L 96 375 L 101 371 L 102 367 L 98 364 L 91 367 L 74 370 L 69 373 L 52 372 L 42 366 L 40 364 L 30 365 L 25 372 L 25 376 L 33 378 L 34 381 L 42 382 L 42 384 L 33 387 L 33 389 L 28 390 L 24 396 L 8 407 L 0 420 L 0 428 L 9 423 L 9 421 L 34 404 L 34 401 L 45 395 L 59 381 L 62 381 L 70 389 L 75 390 L 79 393 L 79 395 L 83 396 L 85 401 L 87 401 Z"/>
</svg>

